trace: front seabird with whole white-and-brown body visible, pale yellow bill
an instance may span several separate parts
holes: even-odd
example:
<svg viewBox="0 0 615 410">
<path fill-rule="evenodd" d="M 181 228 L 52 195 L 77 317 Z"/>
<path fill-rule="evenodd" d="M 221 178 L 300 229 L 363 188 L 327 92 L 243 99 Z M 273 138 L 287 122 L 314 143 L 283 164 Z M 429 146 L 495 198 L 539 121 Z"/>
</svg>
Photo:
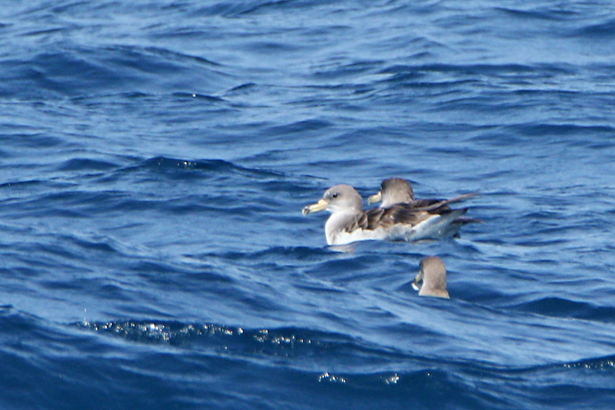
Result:
<svg viewBox="0 0 615 410">
<path fill-rule="evenodd" d="M 302 213 L 322 210 L 331 213 L 325 223 L 328 245 L 346 245 L 359 240 L 414 241 L 450 236 L 451 223 L 468 208 L 412 208 L 400 204 L 364 211 L 359 192 L 350 185 L 338 184 L 327 189 L 317 203 L 304 207 Z"/>
</svg>

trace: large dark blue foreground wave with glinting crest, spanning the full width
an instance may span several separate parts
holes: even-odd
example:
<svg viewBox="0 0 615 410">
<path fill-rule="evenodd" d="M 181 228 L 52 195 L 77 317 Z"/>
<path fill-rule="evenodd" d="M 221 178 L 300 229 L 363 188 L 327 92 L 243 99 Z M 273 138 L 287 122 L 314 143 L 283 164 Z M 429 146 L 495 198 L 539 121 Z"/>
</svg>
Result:
<svg viewBox="0 0 615 410">
<path fill-rule="evenodd" d="M 529 408 L 544 398 L 550 400 L 546 408 L 555 409 L 563 401 L 569 408 L 588 403 L 605 408 L 615 393 L 605 387 L 615 371 L 613 355 L 541 366 L 494 366 L 419 357 L 307 328 L 173 320 L 62 325 L 11 306 L 0 308 L 0 325 L 5 329 L 0 358 L 12 369 L 10 377 L 0 376 L 3 385 L 12 387 L 0 403 L 26 400 L 60 408 L 60 402 L 85 404 L 86 396 L 96 392 L 113 404 L 113 396 L 122 392 L 140 403 L 154 396 L 158 404 L 153 408 L 167 401 L 220 408 L 220 401 L 243 403 L 239 392 L 258 392 L 256 396 L 271 395 L 268 403 L 273 407 L 286 403 L 297 409 L 329 408 L 319 399 L 325 394 L 327 403 L 337 398 L 357 409 L 400 404 L 432 408 L 437 403 L 503 410 Z M 182 382 L 169 384 L 169 379 Z M 35 384 L 38 390 L 30 390 Z M 78 387 L 87 395 L 78 393 Z M 160 389 L 166 399 L 159 397 Z M 69 395 L 71 390 L 77 393 Z M 296 395 L 304 396 L 300 406 Z"/>
</svg>

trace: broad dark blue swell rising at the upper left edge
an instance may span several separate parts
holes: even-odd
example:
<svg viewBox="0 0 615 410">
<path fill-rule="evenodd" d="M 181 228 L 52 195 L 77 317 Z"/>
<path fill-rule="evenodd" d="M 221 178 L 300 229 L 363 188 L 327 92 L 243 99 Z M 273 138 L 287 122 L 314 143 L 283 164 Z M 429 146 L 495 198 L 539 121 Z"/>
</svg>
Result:
<svg viewBox="0 0 615 410">
<path fill-rule="evenodd" d="M 221 84 L 236 84 L 232 73 L 223 72 L 223 66 L 206 58 L 159 47 L 90 47 L 50 47 L 28 56 L 29 60 L 2 61 L 5 93 L 20 99 L 44 96 L 44 100 L 53 100 L 113 93 L 197 92 L 215 99 Z M 195 89 L 194 84 L 199 87 Z"/>
</svg>

